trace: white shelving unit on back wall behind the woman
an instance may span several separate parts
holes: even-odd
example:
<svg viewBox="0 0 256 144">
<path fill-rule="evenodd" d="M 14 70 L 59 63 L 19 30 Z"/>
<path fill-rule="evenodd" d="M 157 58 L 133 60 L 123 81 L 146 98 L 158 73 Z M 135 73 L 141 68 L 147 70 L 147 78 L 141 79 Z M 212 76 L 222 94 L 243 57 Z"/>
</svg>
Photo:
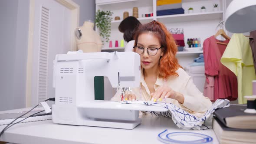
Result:
<svg viewBox="0 0 256 144">
<path fill-rule="evenodd" d="M 183 28 L 184 29 L 184 42 L 187 43 L 189 38 L 200 38 L 201 45 L 208 37 L 214 35 L 217 30 L 217 25 L 225 18 L 225 11 L 227 3 L 231 0 L 182 0 L 182 8 L 184 14 L 157 16 L 157 0 L 96 0 L 97 10 L 110 10 L 113 12 L 111 23 L 111 37 L 112 43 L 115 40 L 118 42 L 123 39 L 123 33 L 118 31 L 118 26 L 123 20 L 123 12 L 127 11 L 129 16 L 132 16 L 132 8 L 138 7 L 138 20 L 144 24 L 157 20 L 168 28 Z M 213 3 L 219 4 L 219 10 L 213 11 Z M 200 7 L 206 7 L 206 12 L 200 12 Z M 194 13 L 188 13 L 188 8 L 193 7 Z M 152 17 L 142 17 L 141 14 L 153 13 Z M 119 16 L 121 20 L 114 20 L 115 16 Z M 96 28 L 96 31 L 98 29 Z M 113 52 L 124 51 L 121 48 L 108 48 L 108 43 L 104 44 L 102 51 Z M 194 62 L 203 51 L 190 51 L 190 52 L 177 52 L 177 59 L 179 64 L 186 68 L 190 63 Z M 199 83 L 203 84 L 204 80 Z M 108 79 L 104 78 L 104 85 L 106 88 L 111 86 Z M 106 95 L 113 95 L 115 93 L 105 91 Z"/>
</svg>

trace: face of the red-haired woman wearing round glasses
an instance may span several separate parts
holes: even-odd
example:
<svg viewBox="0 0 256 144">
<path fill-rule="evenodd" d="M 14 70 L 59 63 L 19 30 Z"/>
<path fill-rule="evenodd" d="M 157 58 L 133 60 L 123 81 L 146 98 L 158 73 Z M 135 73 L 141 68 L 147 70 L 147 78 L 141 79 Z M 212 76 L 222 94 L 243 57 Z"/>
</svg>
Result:
<svg viewBox="0 0 256 144">
<path fill-rule="evenodd" d="M 153 33 L 142 33 L 138 36 L 137 47 L 134 50 L 140 54 L 144 48 L 144 52 L 140 54 L 141 66 L 144 69 L 148 70 L 158 67 L 160 57 L 163 56 L 163 51 L 159 49 L 160 47 L 161 44 Z"/>
</svg>

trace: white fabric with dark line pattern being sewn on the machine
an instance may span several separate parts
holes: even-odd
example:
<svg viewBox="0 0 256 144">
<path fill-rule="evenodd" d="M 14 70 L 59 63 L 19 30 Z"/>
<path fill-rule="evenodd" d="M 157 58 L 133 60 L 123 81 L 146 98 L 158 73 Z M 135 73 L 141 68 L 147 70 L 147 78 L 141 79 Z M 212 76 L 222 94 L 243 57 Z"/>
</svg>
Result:
<svg viewBox="0 0 256 144">
<path fill-rule="evenodd" d="M 156 112 L 156 111 L 141 111 L 144 114 L 150 114 L 155 116 L 164 116 L 167 118 L 172 118 L 177 127 L 182 129 L 210 129 L 212 128 L 212 118 L 213 112 L 216 109 L 229 107 L 230 101 L 227 99 L 217 99 L 215 103 L 208 108 L 208 110 L 204 113 L 204 115 L 200 118 L 197 118 L 194 115 L 191 115 L 187 111 L 178 108 L 174 104 L 171 103 L 163 103 L 163 102 L 153 102 L 153 101 L 121 101 L 121 103 L 129 104 L 135 103 L 139 105 L 153 105 L 159 106 L 169 109 L 169 111 L 165 112 Z"/>
</svg>

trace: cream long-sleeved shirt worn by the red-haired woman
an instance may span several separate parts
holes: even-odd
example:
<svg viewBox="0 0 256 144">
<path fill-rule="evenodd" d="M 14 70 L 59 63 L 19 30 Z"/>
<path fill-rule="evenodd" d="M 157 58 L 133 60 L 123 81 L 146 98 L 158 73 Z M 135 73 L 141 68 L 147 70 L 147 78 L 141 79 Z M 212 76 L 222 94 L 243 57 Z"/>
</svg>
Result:
<svg viewBox="0 0 256 144">
<path fill-rule="evenodd" d="M 166 84 L 170 86 L 174 91 L 180 92 L 184 96 L 184 104 L 179 103 L 177 100 L 171 98 L 165 98 L 162 101 L 167 103 L 172 103 L 179 108 L 189 112 L 197 117 L 203 116 L 208 108 L 212 105 L 209 98 L 204 97 L 202 92 L 200 92 L 196 85 L 194 85 L 191 77 L 183 69 L 178 69 L 176 71 L 178 77 L 170 76 L 166 79 Z M 144 80 L 143 70 L 141 70 L 141 91 L 140 88 L 131 88 L 132 94 L 134 94 L 137 100 L 141 101 L 151 101 L 150 91 Z M 154 85 L 154 89 L 157 90 L 160 86 L 164 85 L 163 78 L 157 78 Z M 142 95 L 141 95 L 142 92 Z M 111 98 L 112 101 L 121 101 L 121 91 L 116 92 L 115 96 Z"/>
</svg>

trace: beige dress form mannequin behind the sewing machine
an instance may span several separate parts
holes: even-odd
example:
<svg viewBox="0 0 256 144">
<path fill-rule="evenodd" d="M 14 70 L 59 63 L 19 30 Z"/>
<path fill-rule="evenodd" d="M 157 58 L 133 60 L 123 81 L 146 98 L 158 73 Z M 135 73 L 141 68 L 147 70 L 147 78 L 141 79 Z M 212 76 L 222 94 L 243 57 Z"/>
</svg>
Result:
<svg viewBox="0 0 256 144">
<path fill-rule="evenodd" d="M 93 30 L 94 23 L 85 21 L 83 26 L 79 27 L 82 36 L 76 39 L 77 48 L 83 52 L 101 52 L 102 41 L 100 36 Z"/>
</svg>

